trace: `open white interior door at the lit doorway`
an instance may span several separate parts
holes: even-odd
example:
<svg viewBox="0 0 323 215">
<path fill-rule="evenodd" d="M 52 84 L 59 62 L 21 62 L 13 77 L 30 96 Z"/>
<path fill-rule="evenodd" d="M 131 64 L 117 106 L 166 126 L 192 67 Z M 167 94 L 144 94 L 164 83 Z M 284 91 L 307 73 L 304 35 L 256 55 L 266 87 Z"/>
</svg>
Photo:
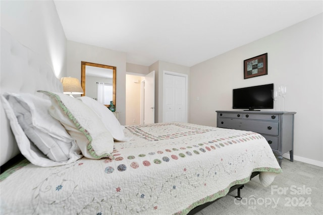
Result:
<svg viewBox="0 0 323 215">
<path fill-rule="evenodd" d="M 145 76 L 144 124 L 155 122 L 155 71 Z"/>
</svg>

